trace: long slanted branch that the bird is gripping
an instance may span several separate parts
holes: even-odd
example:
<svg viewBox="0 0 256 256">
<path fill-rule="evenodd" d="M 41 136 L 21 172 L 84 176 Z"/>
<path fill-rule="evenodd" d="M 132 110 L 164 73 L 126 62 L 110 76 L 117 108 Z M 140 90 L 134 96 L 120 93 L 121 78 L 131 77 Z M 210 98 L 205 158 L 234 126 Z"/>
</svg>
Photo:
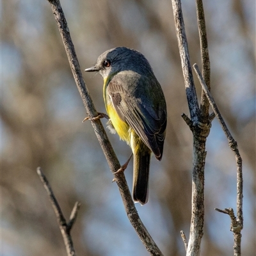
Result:
<svg viewBox="0 0 256 256">
<path fill-rule="evenodd" d="M 60 1 L 48 1 L 51 4 L 52 12 L 54 13 L 54 17 L 58 24 L 58 28 L 60 29 L 60 34 L 63 39 L 65 50 L 67 52 L 68 61 L 70 63 L 72 74 L 74 76 L 77 88 L 83 100 L 84 107 L 86 108 L 86 112 L 88 113 L 90 118 L 97 117 L 98 113 L 93 105 L 92 98 L 90 97 L 86 84 L 84 83 L 83 76 L 81 74 L 81 69 L 79 66 L 79 62 L 77 60 L 76 51 L 71 40 L 71 36 L 67 26 L 67 20 L 65 19 L 65 15 L 61 8 Z M 108 161 L 109 168 L 111 169 L 111 172 L 115 173 L 117 170 L 120 169 L 120 163 L 116 157 L 113 147 L 111 146 L 108 140 L 108 136 L 104 130 L 104 127 L 102 126 L 100 120 L 91 120 L 91 123 L 97 136 L 97 139 L 99 140 L 100 146 L 102 147 L 104 155 Z M 122 196 L 125 211 L 127 213 L 129 221 L 136 230 L 145 248 L 148 250 L 148 252 L 150 252 L 151 255 L 163 255 L 159 250 L 157 244 L 154 242 L 154 240 L 148 233 L 147 228 L 145 228 L 142 221 L 140 220 L 140 216 L 138 215 L 134 202 L 132 201 L 131 193 L 125 180 L 124 172 L 116 173 L 114 177 L 116 184 L 118 185 L 120 194 Z"/>
</svg>

